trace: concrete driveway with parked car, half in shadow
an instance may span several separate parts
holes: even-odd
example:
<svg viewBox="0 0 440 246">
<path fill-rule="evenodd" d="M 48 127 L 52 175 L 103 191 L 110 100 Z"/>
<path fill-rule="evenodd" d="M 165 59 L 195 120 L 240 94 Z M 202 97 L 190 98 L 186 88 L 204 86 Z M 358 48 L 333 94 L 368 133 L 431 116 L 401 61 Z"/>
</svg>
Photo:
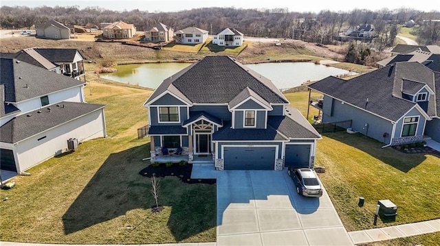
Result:
<svg viewBox="0 0 440 246">
<path fill-rule="evenodd" d="M 353 245 L 327 192 L 296 194 L 286 171 L 217 171 L 217 245 Z"/>
</svg>

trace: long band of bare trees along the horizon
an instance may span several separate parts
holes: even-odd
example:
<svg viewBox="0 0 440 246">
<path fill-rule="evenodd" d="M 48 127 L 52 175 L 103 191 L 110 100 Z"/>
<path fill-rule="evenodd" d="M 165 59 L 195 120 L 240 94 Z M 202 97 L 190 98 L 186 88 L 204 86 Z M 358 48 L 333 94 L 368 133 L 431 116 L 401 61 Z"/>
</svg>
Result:
<svg viewBox="0 0 440 246">
<path fill-rule="evenodd" d="M 361 10 L 332 12 L 292 12 L 287 8 L 241 9 L 241 8 L 197 8 L 180 12 L 148 12 L 141 10 L 113 11 L 98 6 L 80 9 L 78 6 L 38 7 L 3 6 L 0 8 L 2 28 L 31 28 L 34 23 L 55 19 L 64 24 L 99 26 L 99 23 L 124 21 L 133 23 L 142 31 L 154 23 L 164 23 L 175 30 L 188 26 L 206 29 L 217 34 L 225 27 L 236 28 L 245 36 L 294 38 L 323 45 L 336 42 L 349 27 L 373 24 L 377 38 L 373 40 L 377 49 L 392 45 L 398 28 L 409 20 L 417 23 L 414 34 L 421 45 L 440 42 L 440 12 L 421 12 L 412 8 L 396 10 Z M 397 34 L 397 33 L 396 33 Z"/>
</svg>

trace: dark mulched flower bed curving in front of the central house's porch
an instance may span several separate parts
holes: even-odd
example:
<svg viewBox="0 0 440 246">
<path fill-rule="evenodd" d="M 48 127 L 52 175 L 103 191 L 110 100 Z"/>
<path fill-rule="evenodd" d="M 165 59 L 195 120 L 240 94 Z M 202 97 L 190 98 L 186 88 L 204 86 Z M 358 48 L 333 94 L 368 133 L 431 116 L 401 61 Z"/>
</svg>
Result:
<svg viewBox="0 0 440 246">
<path fill-rule="evenodd" d="M 191 172 L 192 164 L 181 166 L 179 163 L 173 163 L 171 167 L 166 167 L 165 163 L 161 163 L 158 167 L 153 167 L 151 164 L 142 169 L 139 174 L 144 177 L 153 177 L 153 173 L 156 177 L 175 176 L 187 184 L 215 184 L 217 182 L 215 179 L 191 179 Z"/>
</svg>

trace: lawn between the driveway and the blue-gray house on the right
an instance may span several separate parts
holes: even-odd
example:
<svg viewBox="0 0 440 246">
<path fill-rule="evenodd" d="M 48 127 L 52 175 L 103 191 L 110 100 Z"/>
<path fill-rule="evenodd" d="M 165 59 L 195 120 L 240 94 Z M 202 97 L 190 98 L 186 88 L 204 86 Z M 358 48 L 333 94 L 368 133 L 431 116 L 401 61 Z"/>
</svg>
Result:
<svg viewBox="0 0 440 246">
<path fill-rule="evenodd" d="M 318 142 L 316 164 L 326 167 L 320 179 L 349 231 L 375 227 L 380 199 L 398 206 L 396 221 L 378 220 L 377 227 L 440 218 L 440 157 L 406 154 L 362 136 L 338 132 Z M 365 205 L 358 207 L 359 197 Z"/>
</svg>

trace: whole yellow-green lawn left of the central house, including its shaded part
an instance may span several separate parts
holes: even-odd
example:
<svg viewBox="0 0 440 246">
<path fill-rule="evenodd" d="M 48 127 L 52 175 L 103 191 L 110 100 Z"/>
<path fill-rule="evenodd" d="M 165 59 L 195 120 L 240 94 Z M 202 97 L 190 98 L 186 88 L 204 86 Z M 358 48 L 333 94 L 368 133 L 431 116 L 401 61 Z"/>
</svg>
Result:
<svg viewBox="0 0 440 246">
<path fill-rule="evenodd" d="M 93 68 L 89 68 L 93 69 Z M 216 239 L 216 188 L 161 179 L 154 205 L 148 139 L 137 139 L 147 123 L 142 103 L 151 90 L 96 83 L 87 77 L 87 101 L 107 104 L 108 138 L 87 141 L 73 153 L 52 158 L 18 176 L 12 190 L 0 190 L 0 238 L 32 243 L 175 243 Z M 103 79 L 100 79 L 103 82 Z M 91 92 L 91 95 L 90 95 Z M 7 229 L 7 230 L 6 230 Z"/>
</svg>

